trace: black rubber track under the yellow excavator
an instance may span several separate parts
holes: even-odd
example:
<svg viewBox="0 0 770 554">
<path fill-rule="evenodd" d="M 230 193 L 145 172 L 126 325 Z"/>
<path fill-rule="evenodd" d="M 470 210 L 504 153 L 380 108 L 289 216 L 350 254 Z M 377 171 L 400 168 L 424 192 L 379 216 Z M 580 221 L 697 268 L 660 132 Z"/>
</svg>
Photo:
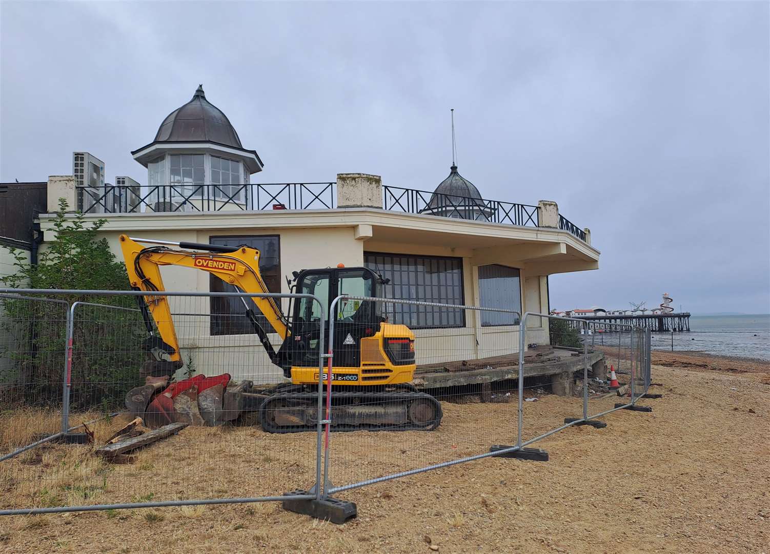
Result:
<svg viewBox="0 0 770 554">
<path fill-rule="evenodd" d="M 436 409 L 437 419 L 428 421 L 427 424 L 407 424 L 407 425 L 333 425 L 332 431 L 433 431 L 441 424 L 441 418 L 444 416 L 444 411 L 441 410 L 441 403 L 436 398 L 428 395 L 424 392 L 410 392 L 410 391 L 394 391 L 394 392 L 346 392 L 338 391 L 332 392 L 332 408 L 334 405 L 338 405 L 338 401 L 344 401 L 346 398 L 357 398 L 360 400 L 360 404 L 370 405 L 380 402 L 393 402 L 404 401 L 412 402 L 415 400 L 425 399 L 430 401 Z M 301 401 L 307 402 L 313 408 L 318 405 L 318 393 L 313 392 L 294 392 L 294 393 L 277 393 L 276 395 L 270 395 L 265 398 L 262 405 L 259 406 L 259 421 L 262 423 L 262 428 L 269 433 L 301 433 L 305 431 L 316 431 L 316 425 L 286 425 L 276 426 L 271 425 L 267 421 L 267 413 L 269 411 L 269 405 L 276 401 Z M 346 402 L 342 402 L 347 404 Z M 326 395 L 323 395 L 323 406 L 326 409 Z"/>
</svg>

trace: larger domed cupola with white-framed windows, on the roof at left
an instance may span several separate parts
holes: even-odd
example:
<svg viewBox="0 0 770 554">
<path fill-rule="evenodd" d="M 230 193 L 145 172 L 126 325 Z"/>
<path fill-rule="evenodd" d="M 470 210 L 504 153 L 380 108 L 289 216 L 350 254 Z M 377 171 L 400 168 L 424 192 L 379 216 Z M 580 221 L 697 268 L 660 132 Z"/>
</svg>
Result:
<svg viewBox="0 0 770 554">
<path fill-rule="evenodd" d="M 147 203 L 155 211 L 246 210 L 249 176 L 263 168 L 203 85 L 163 119 L 152 143 L 131 154 L 147 168 Z"/>
</svg>

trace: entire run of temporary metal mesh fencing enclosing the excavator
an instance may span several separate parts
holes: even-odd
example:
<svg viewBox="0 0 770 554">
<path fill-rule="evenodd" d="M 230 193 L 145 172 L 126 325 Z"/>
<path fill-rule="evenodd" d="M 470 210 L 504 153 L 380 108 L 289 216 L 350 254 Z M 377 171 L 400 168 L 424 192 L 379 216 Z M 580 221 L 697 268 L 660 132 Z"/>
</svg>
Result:
<svg viewBox="0 0 770 554">
<path fill-rule="evenodd" d="M 597 330 L 570 318 L 343 295 L 329 307 L 329 354 L 323 354 L 326 307 L 317 297 L 261 295 L 318 305 L 317 333 L 293 337 L 310 341 L 303 355 L 317 361 L 316 409 L 305 408 L 306 414 L 313 412 L 307 417 L 315 431 L 263 431 L 263 419 L 289 417 L 294 408 L 279 405 L 228 425 L 187 427 L 132 452 L 126 460 L 132 463 L 115 465 L 95 448 L 131 420 L 121 413 L 126 391 L 156 373 L 159 358 L 169 361 L 157 340 L 149 343 L 155 351 L 145 342 L 149 332 L 158 337 L 167 322 L 155 317 L 148 329 L 141 311 L 132 307 L 146 294 L 133 291 L 59 291 L 67 301 L 0 294 L 6 314 L 12 314 L 4 317 L 0 391 L 13 401 L 2 417 L 0 444 L 6 454 L 0 457 L 0 475 L 6 494 L 0 515 L 283 500 L 284 492 L 322 482 L 323 487 L 294 496 L 318 498 L 486 458 L 493 445 L 536 445 L 569 426 L 604 418 L 618 403 L 630 405 L 650 381 L 648 331 L 605 328 L 604 346 L 598 346 Z M 249 296 L 254 295 L 153 293 L 153 300 L 169 300 L 179 341 L 177 379 L 229 373 L 233 381 L 250 381 L 258 404 L 286 382 L 230 304 L 248 302 Z M 84 300 L 75 301 L 79 298 Z M 385 331 L 383 323 L 393 324 L 387 326 L 384 350 L 378 335 Z M 280 342 L 276 334 L 269 337 Z M 410 355 L 417 364 L 413 375 Z M 605 364 L 633 387 L 630 398 L 599 386 L 606 381 Z M 359 367 L 360 376 L 353 371 Z M 401 368 L 408 371 L 398 377 Z M 363 382 L 346 390 L 350 374 Z M 330 394 L 322 409 L 324 379 Z M 364 382 L 372 383 L 366 391 Z M 380 430 L 363 430 L 362 420 Z M 45 442 L 59 437 L 62 425 L 92 432 L 94 445 Z M 42 441 L 34 442 L 39 433 Z"/>
</svg>

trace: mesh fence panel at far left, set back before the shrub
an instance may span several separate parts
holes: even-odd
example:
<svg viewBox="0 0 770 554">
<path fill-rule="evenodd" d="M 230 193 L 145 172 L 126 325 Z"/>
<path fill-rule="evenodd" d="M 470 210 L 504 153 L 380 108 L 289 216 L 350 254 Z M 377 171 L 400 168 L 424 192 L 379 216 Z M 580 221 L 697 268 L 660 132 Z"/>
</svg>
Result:
<svg viewBox="0 0 770 554">
<path fill-rule="evenodd" d="M 0 459 L 61 428 L 68 317 L 67 301 L 0 294 Z"/>
</svg>

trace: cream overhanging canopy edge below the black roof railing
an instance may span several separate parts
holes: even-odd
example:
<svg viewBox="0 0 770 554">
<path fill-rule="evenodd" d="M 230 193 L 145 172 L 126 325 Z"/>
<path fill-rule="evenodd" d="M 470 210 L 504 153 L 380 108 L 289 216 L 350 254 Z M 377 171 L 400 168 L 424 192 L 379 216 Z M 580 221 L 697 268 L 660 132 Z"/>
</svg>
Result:
<svg viewBox="0 0 770 554">
<path fill-rule="evenodd" d="M 86 219 L 100 214 L 86 214 Z M 52 232 L 52 218 L 41 217 Z M 211 230 L 221 233 L 263 233 L 282 229 L 348 227 L 364 250 L 401 253 L 442 251 L 468 257 L 470 264 L 500 264 L 550 275 L 598 269 L 599 251 L 571 233 L 551 227 L 519 227 L 504 223 L 457 220 L 426 214 L 373 208 L 334 210 L 263 210 L 172 213 L 116 213 L 102 232 L 152 236 L 159 231 Z"/>
</svg>

